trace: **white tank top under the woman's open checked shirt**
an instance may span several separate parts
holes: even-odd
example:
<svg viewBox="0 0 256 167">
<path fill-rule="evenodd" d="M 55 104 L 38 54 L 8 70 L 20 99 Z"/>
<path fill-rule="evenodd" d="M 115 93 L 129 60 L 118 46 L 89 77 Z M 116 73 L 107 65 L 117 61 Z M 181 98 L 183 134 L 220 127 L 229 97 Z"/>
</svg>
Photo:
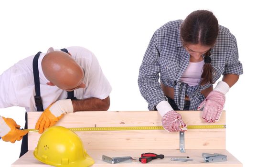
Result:
<svg viewBox="0 0 256 167">
<path fill-rule="evenodd" d="M 203 73 L 203 64 L 204 61 L 196 63 L 190 62 L 187 69 L 182 74 L 180 81 L 188 84 L 189 86 L 198 85 Z"/>
</svg>

